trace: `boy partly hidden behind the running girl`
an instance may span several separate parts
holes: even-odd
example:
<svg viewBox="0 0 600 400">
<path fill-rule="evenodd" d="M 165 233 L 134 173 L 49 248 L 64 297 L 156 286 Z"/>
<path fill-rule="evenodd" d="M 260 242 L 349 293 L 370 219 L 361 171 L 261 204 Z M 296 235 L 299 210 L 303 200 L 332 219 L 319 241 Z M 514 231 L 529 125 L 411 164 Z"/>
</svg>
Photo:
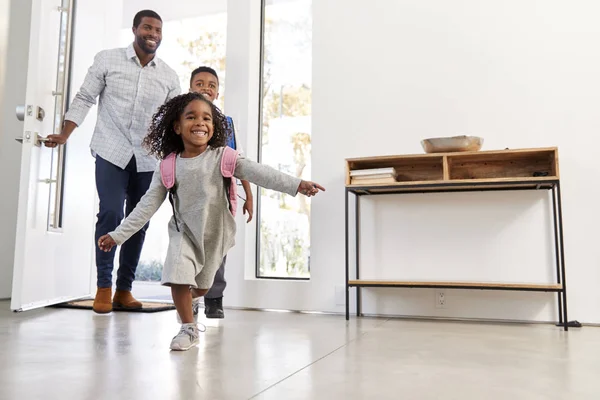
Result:
<svg viewBox="0 0 600 400">
<path fill-rule="evenodd" d="M 190 92 L 202 94 L 205 98 L 214 102 L 219 98 L 219 77 L 217 72 L 206 66 L 196 68 L 190 77 Z M 227 117 L 229 128 L 231 129 L 231 137 L 228 146 L 237 150 L 240 154 L 243 153 L 241 146 L 235 134 L 235 128 L 231 117 Z M 246 192 L 246 201 L 244 203 L 244 214 L 248 213 L 248 221 L 252 220 L 253 215 L 253 197 L 250 183 L 242 180 L 244 192 Z M 219 267 L 215 280 L 206 295 L 204 295 L 204 314 L 207 318 L 224 318 L 223 312 L 223 292 L 227 282 L 225 281 L 225 261 L 227 256 L 223 258 L 223 262 Z M 200 298 L 193 300 L 194 317 L 197 319 Z"/>
</svg>

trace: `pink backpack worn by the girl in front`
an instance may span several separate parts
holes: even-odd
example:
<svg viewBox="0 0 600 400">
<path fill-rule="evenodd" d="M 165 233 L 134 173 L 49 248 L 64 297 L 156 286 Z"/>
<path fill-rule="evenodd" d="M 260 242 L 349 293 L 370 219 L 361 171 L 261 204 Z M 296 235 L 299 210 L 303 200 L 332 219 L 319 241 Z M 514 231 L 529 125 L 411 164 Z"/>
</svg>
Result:
<svg viewBox="0 0 600 400">
<path fill-rule="evenodd" d="M 233 173 L 235 171 L 235 165 L 237 163 L 238 152 L 231 147 L 223 148 L 223 156 L 221 157 L 221 175 L 225 179 L 225 190 L 227 191 L 227 199 L 229 200 L 229 211 L 235 217 L 237 209 L 237 187 L 234 182 Z M 177 154 L 171 153 L 166 156 L 160 162 L 160 178 L 163 185 L 169 191 L 169 202 L 173 208 L 173 218 L 175 219 L 175 227 L 179 232 L 179 226 L 177 223 L 177 216 L 175 215 L 175 203 L 173 202 L 173 196 L 175 193 L 175 165 L 177 161 Z"/>
</svg>

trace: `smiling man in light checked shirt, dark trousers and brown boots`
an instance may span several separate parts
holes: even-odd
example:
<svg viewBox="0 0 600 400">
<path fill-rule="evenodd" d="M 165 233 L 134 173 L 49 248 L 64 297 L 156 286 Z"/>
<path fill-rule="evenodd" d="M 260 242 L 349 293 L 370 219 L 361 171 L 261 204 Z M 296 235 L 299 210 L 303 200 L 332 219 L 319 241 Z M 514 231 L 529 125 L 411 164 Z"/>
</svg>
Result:
<svg viewBox="0 0 600 400">
<path fill-rule="evenodd" d="M 157 108 L 181 92 L 175 71 L 156 57 L 162 40 L 160 16 L 151 10 L 140 11 L 133 19 L 132 30 L 135 40 L 127 48 L 104 50 L 96 55 L 65 114 L 62 132 L 49 135 L 46 142 L 48 147 L 66 143 L 99 97 L 98 120 L 90 145 L 96 158 L 100 199 L 94 243 L 119 225 L 124 204 L 128 215 L 148 190 L 156 159 L 142 149 L 142 140 Z M 131 295 L 131 288 L 147 228 L 148 225 L 121 247 L 112 301 L 115 250 L 105 253 L 96 246 L 95 312 L 109 313 L 113 306 L 142 307 Z"/>
</svg>

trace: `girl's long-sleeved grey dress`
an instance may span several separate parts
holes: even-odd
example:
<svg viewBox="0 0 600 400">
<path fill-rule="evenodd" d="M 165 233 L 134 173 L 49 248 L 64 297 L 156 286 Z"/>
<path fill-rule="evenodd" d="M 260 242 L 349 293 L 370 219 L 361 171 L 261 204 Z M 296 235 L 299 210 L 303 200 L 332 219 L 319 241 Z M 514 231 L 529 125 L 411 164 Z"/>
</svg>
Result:
<svg viewBox="0 0 600 400">
<path fill-rule="evenodd" d="M 175 212 L 179 231 L 172 218 L 163 284 L 210 288 L 223 256 L 235 243 L 236 224 L 220 168 L 222 155 L 221 147 L 209 148 L 194 158 L 177 157 Z M 234 176 L 291 196 L 297 194 L 301 182 L 244 157 L 238 158 Z M 157 168 L 144 197 L 110 236 L 119 245 L 125 242 L 150 220 L 166 196 L 167 189 Z"/>
</svg>

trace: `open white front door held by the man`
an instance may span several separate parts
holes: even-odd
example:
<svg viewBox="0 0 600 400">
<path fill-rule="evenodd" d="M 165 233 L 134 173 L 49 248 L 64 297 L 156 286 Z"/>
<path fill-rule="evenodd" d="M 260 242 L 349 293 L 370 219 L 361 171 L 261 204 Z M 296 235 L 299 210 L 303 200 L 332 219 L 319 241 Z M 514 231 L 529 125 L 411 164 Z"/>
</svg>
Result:
<svg viewBox="0 0 600 400">
<path fill-rule="evenodd" d="M 11 309 L 90 294 L 95 186 L 89 138 L 60 149 L 39 143 L 60 131 L 68 98 L 73 0 L 33 0 Z"/>
</svg>

